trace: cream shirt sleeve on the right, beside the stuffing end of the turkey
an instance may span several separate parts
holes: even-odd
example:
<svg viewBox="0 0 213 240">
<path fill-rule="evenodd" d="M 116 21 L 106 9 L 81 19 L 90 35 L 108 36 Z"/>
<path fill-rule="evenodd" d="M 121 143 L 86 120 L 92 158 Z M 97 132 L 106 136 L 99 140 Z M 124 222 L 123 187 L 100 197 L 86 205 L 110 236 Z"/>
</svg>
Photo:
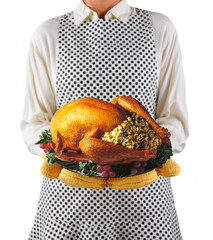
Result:
<svg viewBox="0 0 213 240">
<path fill-rule="evenodd" d="M 171 133 L 173 153 L 180 153 L 189 136 L 181 50 L 173 23 L 162 14 L 154 18 L 159 61 L 156 122 Z"/>
</svg>

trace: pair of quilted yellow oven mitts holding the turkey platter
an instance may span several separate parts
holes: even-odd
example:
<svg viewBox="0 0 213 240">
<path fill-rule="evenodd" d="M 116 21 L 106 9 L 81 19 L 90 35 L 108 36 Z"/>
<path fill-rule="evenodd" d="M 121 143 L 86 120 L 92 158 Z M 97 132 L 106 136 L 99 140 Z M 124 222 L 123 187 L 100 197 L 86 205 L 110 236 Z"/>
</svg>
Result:
<svg viewBox="0 0 213 240">
<path fill-rule="evenodd" d="M 57 164 L 49 164 L 47 162 L 46 154 L 42 155 L 44 160 L 40 172 L 48 178 L 58 178 L 66 185 L 71 187 L 84 187 L 92 189 L 105 188 L 106 185 L 113 189 L 134 189 L 144 187 L 157 180 L 158 175 L 164 177 L 177 176 L 180 173 L 180 167 L 171 158 L 163 164 L 163 168 L 155 168 L 150 172 L 124 178 L 103 178 L 103 177 L 89 177 L 79 173 L 69 171 Z"/>
</svg>

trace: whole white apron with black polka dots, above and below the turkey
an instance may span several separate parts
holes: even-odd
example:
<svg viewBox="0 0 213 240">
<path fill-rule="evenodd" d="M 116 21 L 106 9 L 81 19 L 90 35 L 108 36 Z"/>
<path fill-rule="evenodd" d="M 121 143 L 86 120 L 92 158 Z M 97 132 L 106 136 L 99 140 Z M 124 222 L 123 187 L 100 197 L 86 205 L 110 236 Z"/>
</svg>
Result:
<svg viewBox="0 0 213 240">
<path fill-rule="evenodd" d="M 155 118 L 157 62 L 150 13 L 128 22 L 118 19 L 74 23 L 61 16 L 56 101 L 82 97 L 108 102 L 132 96 Z M 29 239 L 39 240 L 179 240 L 182 239 L 170 178 L 145 187 L 116 190 L 70 187 L 43 178 L 37 214 Z"/>
</svg>

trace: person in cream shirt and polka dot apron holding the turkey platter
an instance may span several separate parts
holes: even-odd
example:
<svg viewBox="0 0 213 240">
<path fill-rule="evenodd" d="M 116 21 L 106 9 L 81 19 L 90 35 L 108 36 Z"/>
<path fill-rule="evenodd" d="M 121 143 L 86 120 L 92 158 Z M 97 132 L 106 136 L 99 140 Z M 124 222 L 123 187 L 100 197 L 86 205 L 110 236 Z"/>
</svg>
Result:
<svg viewBox="0 0 213 240">
<path fill-rule="evenodd" d="M 189 135 L 177 33 L 160 13 L 125 0 L 81 0 L 74 11 L 43 22 L 29 49 L 21 129 L 31 153 L 57 109 L 93 96 L 130 95 L 171 132 L 173 152 Z M 115 190 L 69 187 L 43 178 L 29 239 L 182 239 L 170 178 Z"/>
</svg>

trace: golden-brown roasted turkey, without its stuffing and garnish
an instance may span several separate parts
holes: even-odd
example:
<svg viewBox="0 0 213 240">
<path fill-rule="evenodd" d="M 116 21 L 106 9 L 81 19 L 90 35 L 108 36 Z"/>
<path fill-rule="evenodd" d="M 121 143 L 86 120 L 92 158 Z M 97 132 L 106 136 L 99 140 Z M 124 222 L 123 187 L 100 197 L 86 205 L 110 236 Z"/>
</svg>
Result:
<svg viewBox="0 0 213 240">
<path fill-rule="evenodd" d="M 156 158 L 156 149 L 134 150 L 101 139 L 127 118 L 127 111 L 145 118 L 161 139 L 170 133 L 160 127 L 145 107 L 130 96 L 117 96 L 111 103 L 94 97 L 71 101 L 58 109 L 50 122 L 56 157 L 64 161 L 92 160 L 104 165 L 128 164 Z"/>
</svg>

